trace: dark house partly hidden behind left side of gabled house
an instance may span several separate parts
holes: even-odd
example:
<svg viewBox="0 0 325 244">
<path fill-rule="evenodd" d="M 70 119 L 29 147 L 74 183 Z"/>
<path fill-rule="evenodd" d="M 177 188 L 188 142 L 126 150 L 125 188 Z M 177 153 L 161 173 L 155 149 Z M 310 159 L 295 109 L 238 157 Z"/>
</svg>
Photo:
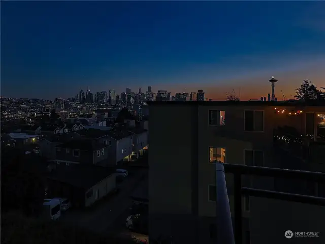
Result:
<svg viewBox="0 0 325 244">
<path fill-rule="evenodd" d="M 55 160 L 57 145 L 73 139 L 78 139 L 80 137 L 81 136 L 79 134 L 73 132 L 65 134 L 44 135 L 38 142 L 40 153 L 42 156 L 50 160 Z"/>
</svg>

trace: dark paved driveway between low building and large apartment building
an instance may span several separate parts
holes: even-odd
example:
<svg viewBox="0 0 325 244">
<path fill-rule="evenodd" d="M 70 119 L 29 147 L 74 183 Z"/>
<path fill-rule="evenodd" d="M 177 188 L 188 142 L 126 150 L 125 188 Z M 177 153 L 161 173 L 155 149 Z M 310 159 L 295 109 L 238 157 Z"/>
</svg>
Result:
<svg viewBox="0 0 325 244">
<path fill-rule="evenodd" d="M 121 222 L 121 218 L 124 218 L 127 210 L 131 208 L 132 200 L 130 196 L 141 183 L 143 175 L 147 176 L 148 170 L 134 170 L 134 175 L 126 177 L 123 182 L 117 184 L 120 188 L 118 195 L 110 199 L 102 199 L 104 202 L 99 202 L 98 205 L 95 205 L 89 210 L 70 209 L 70 211 L 68 210 L 62 214 L 61 221 L 86 228 L 93 232 L 108 233 L 116 222 Z M 123 222 L 125 222 L 125 219 Z"/>
</svg>

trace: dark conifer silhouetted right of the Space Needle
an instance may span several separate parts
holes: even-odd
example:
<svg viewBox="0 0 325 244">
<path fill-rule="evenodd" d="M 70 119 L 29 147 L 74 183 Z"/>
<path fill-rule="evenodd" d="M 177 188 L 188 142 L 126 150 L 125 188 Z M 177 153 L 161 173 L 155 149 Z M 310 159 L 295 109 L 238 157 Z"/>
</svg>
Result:
<svg viewBox="0 0 325 244">
<path fill-rule="evenodd" d="M 296 89 L 296 95 L 294 95 L 294 98 L 299 100 L 324 99 L 325 93 L 322 92 L 322 90 L 323 88 L 318 90 L 310 80 L 304 80 L 300 85 L 300 88 Z"/>
</svg>

